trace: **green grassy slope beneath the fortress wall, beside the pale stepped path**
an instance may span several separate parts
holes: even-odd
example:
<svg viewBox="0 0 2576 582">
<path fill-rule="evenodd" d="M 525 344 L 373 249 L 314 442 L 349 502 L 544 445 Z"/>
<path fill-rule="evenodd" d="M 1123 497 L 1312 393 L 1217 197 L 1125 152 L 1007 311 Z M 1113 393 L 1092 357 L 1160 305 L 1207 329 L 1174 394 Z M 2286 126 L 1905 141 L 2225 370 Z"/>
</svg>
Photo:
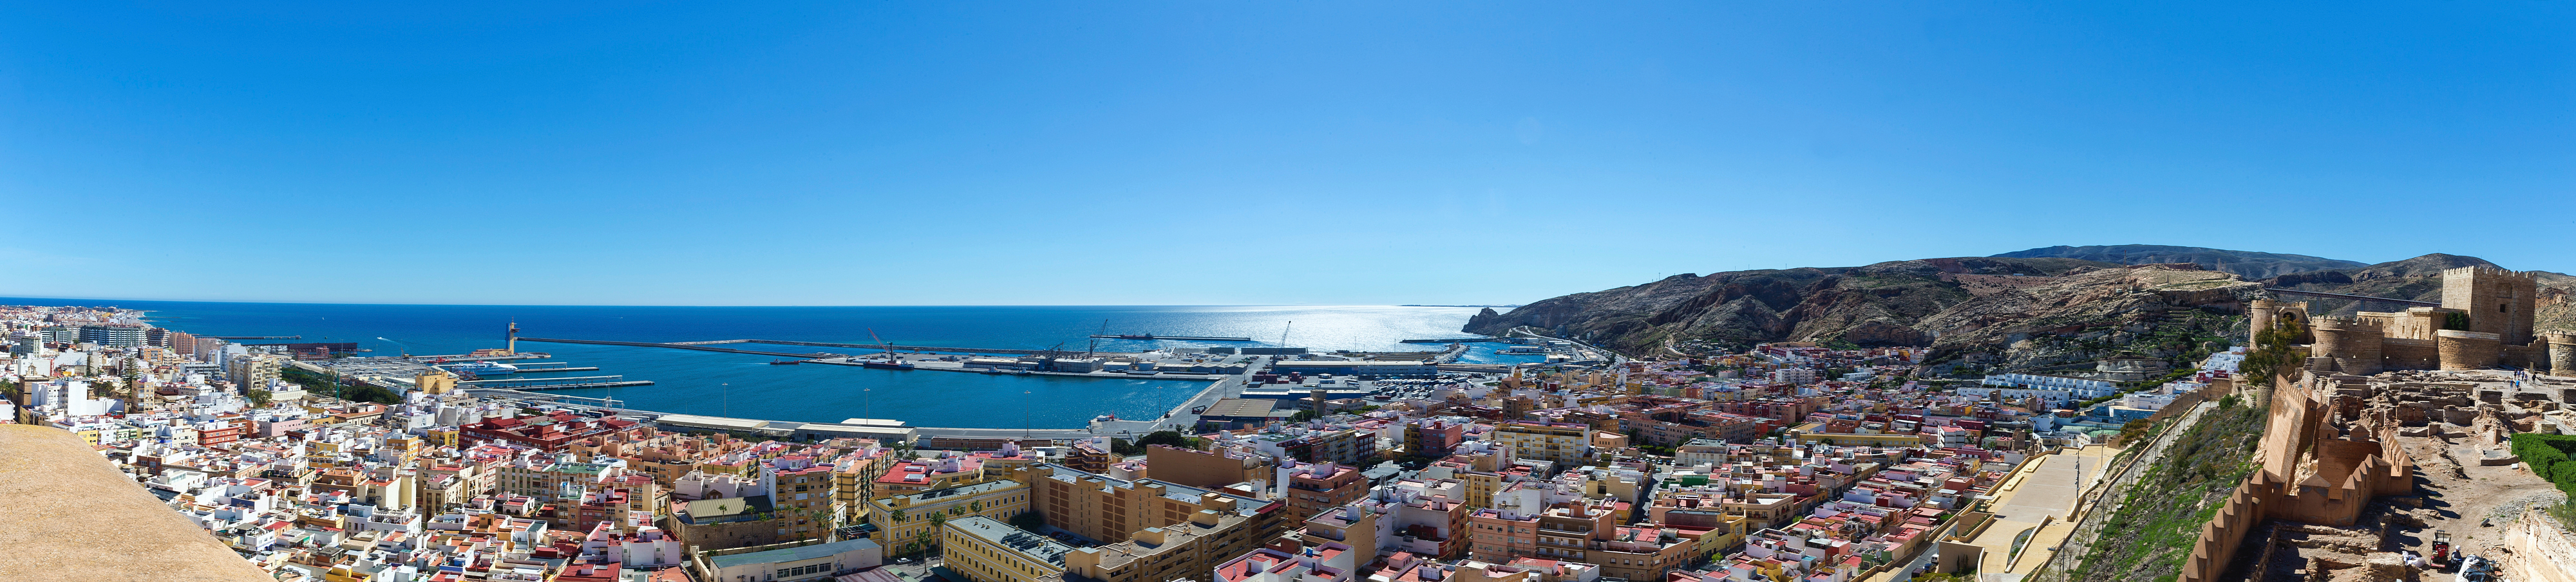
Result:
<svg viewBox="0 0 2576 582">
<path fill-rule="evenodd" d="M 2084 549 L 2081 564 L 2063 579 L 2174 579 L 2200 541 L 2200 525 L 2218 518 L 2218 505 L 2254 474 L 2267 409 L 2264 402 L 2228 397 L 2174 438 L 2164 458 L 2130 484 L 2094 546 Z"/>
</svg>

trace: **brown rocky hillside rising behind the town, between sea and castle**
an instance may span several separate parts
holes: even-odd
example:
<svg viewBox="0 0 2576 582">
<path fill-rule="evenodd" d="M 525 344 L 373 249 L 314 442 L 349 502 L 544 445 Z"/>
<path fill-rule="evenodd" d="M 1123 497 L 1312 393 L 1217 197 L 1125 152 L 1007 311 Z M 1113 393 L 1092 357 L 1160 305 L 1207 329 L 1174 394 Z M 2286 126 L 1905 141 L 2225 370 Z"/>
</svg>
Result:
<svg viewBox="0 0 2576 582">
<path fill-rule="evenodd" d="M 2141 350 L 2174 355 L 2241 324 L 2221 312 L 2259 286 L 2197 265 L 2071 258 L 1929 258 L 1862 268 L 1734 270 L 1571 294 L 1468 319 L 1625 353 L 1775 340 L 1932 345 L 1953 361 L 2032 368 Z M 2200 309 L 2210 306 L 2210 309 Z"/>
</svg>

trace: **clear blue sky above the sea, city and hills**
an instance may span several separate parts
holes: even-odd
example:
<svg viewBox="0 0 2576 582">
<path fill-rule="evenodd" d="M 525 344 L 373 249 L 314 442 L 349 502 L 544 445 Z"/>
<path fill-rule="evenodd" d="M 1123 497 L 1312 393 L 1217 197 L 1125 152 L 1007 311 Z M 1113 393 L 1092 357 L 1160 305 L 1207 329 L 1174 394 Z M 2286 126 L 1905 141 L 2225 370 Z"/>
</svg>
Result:
<svg viewBox="0 0 2576 582">
<path fill-rule="evenodd" d="M 2571 3 L 13 3 L 0 294 L 1522 304 L 2576 270 Z"/>
</svg>

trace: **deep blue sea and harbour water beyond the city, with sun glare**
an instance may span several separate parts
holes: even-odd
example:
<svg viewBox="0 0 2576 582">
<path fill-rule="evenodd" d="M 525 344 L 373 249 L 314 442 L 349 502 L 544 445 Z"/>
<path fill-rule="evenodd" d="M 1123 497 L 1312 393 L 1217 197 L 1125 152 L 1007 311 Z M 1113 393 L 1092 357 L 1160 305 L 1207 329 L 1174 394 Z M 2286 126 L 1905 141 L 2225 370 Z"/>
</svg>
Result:
<svg viewBox="0 0 2576 582">
<path fill-rule="evenodd" d="M 147 309 L 160 327 L 191 335 L 299 335 L 294 343 L 358 343 L 366 355 L 446 355 L 502 348 L 520 337 L 690 343 L 804 340 L 956 348 L 1087 350 L 1095 332 L 1255 337 L 1252 343 L 1097 340 L 1097 350 L 1293 345 L 1309 350 L 1440 350 L 1401 343 L 1476 337 L 1458 332 L 1476 306 L 443 306 L 443 304 L 234 304 L 0 299 L 0 304 Z M 252 343 L 252 340 L 245 340 Z M 281 340 L 283 343 L 283 340 Z M 750 350 L 832 350 L 806 345 L 726 345 Z M 1466 363 L 1525 363 L 1502 345 L 1468 348 Z M 654 381 L 626 389 L 556 394 L 613 397 L 631 409 L 840 422 L 904 420 L 917 427 L 1082 427 L 1097 415 L 1149 420 L 1206 389 L 1206 381 L 987 376 L 873 371 L 853 366 L 770 366 L 770 355 L 629 345 L 526 343 L 577 376 Z M 562 373 L 574 376 L 574 373 Z"/>
</svg>

